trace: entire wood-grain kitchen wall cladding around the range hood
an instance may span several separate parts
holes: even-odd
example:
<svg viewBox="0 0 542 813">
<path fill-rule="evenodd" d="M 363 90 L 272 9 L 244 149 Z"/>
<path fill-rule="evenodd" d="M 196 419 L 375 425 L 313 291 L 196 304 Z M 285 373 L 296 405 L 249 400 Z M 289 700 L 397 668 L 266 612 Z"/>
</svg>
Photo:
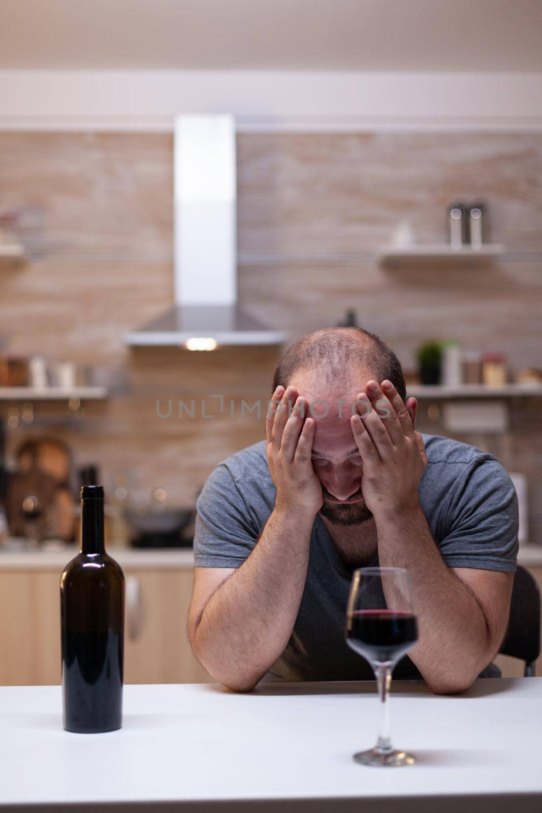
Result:
<svg viewBox="0 0 542 813">
<path fill-rule="evenodd" d="M 248 311 L 295 338 L 353 307 L 406 368 L 427 337 L 504 350 L 514 369 L 540 366 L 542 135 L 243 134 L 237 150 Z M 157 398 L 264 401 L 280 348 L 124 346 L 124 333 L 172 302 L 172 159 L 167 134 L 0 133 L 0 211 L 14 215 L 30 256 L 0 267 L 0 341 L 13 354 L 92 363 L 111 386 L 107 402 L 78 415 L 37 405 L 33 426 L 11 431 L 11 450 L 28 433 L 59 434 L 78 463 L 101 464 L 108 489 L 125 474 L 139 495 L 161 486 L 192 504 L 215 463 L 263 437 L 262 420 L 160 420 Z M 401 220 L 421 242 L 444 241 L 453 198 L 488 202 L 505 262 L 375 263 Z M 424 406 L 420 416 L 420 428 L 442 431 Z M 542 541 L 540 401 L 514 402 L 502 442 L 474 442 L 529 476 L 531 536 Z"/>
</svg>

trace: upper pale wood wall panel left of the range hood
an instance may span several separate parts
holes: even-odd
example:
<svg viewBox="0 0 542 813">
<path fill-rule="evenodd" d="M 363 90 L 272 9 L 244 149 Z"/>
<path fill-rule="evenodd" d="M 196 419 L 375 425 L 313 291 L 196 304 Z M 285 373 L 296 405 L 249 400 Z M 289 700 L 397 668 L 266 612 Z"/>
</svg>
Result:
<svg viewBox="0 0 542 813">
<path fill-rule="evenodd" d="M 36 259 L 171 261 L 171 135 L 1 133 L 0 145 L 2 210 Z"/>
</svg>

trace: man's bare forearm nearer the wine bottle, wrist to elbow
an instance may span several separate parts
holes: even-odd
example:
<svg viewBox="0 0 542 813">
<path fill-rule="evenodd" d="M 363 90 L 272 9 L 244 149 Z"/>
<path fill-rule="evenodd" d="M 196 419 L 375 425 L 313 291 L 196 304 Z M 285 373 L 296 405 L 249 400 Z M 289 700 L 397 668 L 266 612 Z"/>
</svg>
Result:
<svg viewBox="0 0 542 813">
<path fill-rule="evenodd" d="M 314 518 L 272 511 L 254 550 L 207 602 L 192 645 L 212 676 L 249 690 L 284 651 L 301 603 Z"/>
</svg>

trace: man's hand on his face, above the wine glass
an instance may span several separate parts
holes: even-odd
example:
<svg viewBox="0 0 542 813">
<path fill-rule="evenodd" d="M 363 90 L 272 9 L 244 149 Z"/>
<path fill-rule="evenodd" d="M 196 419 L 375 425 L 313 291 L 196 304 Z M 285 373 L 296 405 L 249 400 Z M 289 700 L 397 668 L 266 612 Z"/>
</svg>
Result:
<svg viewBox="0 0 542 813">
<path fill-rule="evenodd" d="M 362 494 L 375 515 L 410 511 L 419 505 L 418 485 L 427 467 L 422 436 L 391 381 L 382 388 L 367 381 L 367 393 L 358 394 L 358 413 L 352 432 L 362 456 Z M 385 411 L 381 416 L 376 411 Z"/>
</svg>

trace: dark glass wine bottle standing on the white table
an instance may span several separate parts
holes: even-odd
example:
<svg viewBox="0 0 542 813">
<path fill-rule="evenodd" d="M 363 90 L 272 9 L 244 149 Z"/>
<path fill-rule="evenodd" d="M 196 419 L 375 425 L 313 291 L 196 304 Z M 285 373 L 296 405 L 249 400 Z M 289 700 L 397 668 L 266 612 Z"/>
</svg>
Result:
<svg viewBox="0 0 542 813">
<path fill-rule="evenodd" d="M 81 489 L 81 550 L 60 578 L 63 724 L 101 733 L 122 725 L 124 574 L 106 554 L 103 488 Z"/>
</svg>

